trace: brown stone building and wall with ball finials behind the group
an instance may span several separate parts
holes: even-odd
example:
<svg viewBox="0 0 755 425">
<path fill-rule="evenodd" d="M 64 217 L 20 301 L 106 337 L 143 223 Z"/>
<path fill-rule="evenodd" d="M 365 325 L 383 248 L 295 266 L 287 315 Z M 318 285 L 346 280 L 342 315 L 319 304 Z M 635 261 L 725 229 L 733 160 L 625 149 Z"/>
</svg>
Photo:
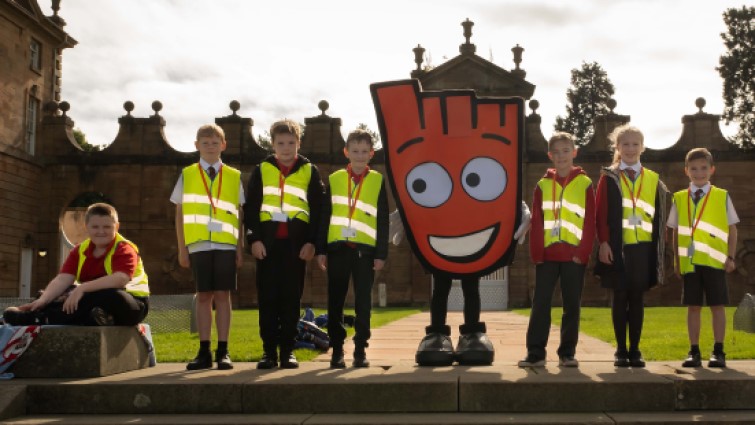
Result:
<svg viewBox="0 0 755 425">
<path fill-rule="evenodd" d="M 27 22 L 24 21 L 27 18 L 11 14 L 16 13 L 16 9 L 22 4 L 29 5 L 30 10 L 37 10 L 35 16 L 38 23 Z M 51 28 L 59 30 L 52 32 L 58 38 L 51 45 L 73 47 L 75 41 L 65 35 L 62 25 L 56 24 L 54 17 L 43 17 L 38 9 L 31 0 L 0 0 L 0 12 L 3 14 L 0 16 L 7 18 L 0 21 L 0 32 L 3 35 L 15 34 L 14 31 L 31 34 L 30 29 L 13 30 L 12 28 L 21 25 L 19 22 L 30 28 L 51 24 Z M 15 27 L 9 27 L 8 21 Z M 526 73 L 520 68 L 523 49 L 519 46 L 512 49 L 515 68 L 505 70 L 475 54 L 475 46 L 470 42 L 472 23 L 467 21 L 462 25 L 465 42 L 460 46 L 460 55 L 436 68 L 423 69 L 423 49 L 417 46 L 414 49 L 416 69 L 411 71 L 411 77 L 418 78 L 426 90 L 464 88 L 474 89 L 482 96 L 520 96 L 531 99 L 535 85 L 525 80 Z M 6 40 L 7 37 L 0 39 Z M 1 42 L 0 48 L 10 48 L 2 43 L 6 42 Z M 21 41 L 16 42 L 18 43 Z M 25 45 L 26 41 L 23 43 Z M 21 62 L 20 56 L 13 57 Z M 24 59 L 23 62 L 28 66 L 28 61 Z M 16 72 L 26 71 L 23 64 L 16 63 L 13 66 Z M 54 69 L 59 71 L 57 64 Z M 43 87 L 37 88 L 39 100 L 47 106 L 44 108 L 44 116 L 40 116 L 35 122 L 36 143 L 33 153 L 24 153 L 23 136 L 26 127 L 20 125 L 24 121 L 17 115 L 25 108 L 26 104 L 19 99 L 29 95 L 34 75 L 30 74 L 29 78 L 20 80 L 2 80 L 0 102 L 9 105 L 9 108 L 0 110 L 0 114 L 6 114 L 0 115 L 0 119 L 4 122 L 15 119 L 19 125 L 4 125 L 0 133 L 0 202 L 6 206 L 0 214 L 0 296 L 21 294 L 21 281 L 26 275 L 29 276 L 30 289 L 44 287 L 57 272 L 61 258 L 70 249 L 64 233 L 75 239 L 72 236 L 75 232 L 69 228 L 71 223 L 75 224 L 76 220 L 80 220 L 81 211 L 96 200 L 109 201 L 118 208 L 121 231 L 140 246 L 154 293 L 193 292 L 190 273 L 180 268 L 176 259 L 175 208 L 168 198 L 180 170 L 197 161 L 197 154 L 178 152 L 168 144 L 164 134 L 166 120 L 161 115 L 162 105 L 157 101 L 152 105 L 154 114 L 148 117 L 132 116 L 134 105 L 126 102 L 125 113 L 118 118 L 119 128 L 115 141 L 101 152 L 82 151 L 73 137 L 74 123 L 68 115 L 69 112 L 75 115 L 75 105 L 71 107 L 66 102 L 58 102 L 59 99 L 55 97 L 55 80 L 45 80 L 46 75 L 52 76 L 52 69 L 38 78 L 38 86 Z M 42 86 L 43 83 L 49 85 Z M 531 112 L 526 118 L 526 146 L 522 158 L 522 193 L 526 201 L 531 199 L 537 180 L 549 165 L 546 137 L 537 114 L 538 102 L 530 100 L 529 106 Z M 741 151 L 729 144 L 718 127 L 719 117 L 702 111 L 704 101 L 700 100 L 697 106 L 698 112 L 682 118 L 678 142 L 664 150 L 649 149 L 643 155 L 643 163 L 658 171 L 669 188 L 678 190 L 687 184 L 683 173 L 685 153 L 697 146 L 705 146 L 713 151 L 718 163 L 715 182 L 730 190 L 742 220 L 739 225 L 737 253 L 740 268 L 730 279 L 731 300 L 736 303 L 742 294 L 755 289 L 755 229 L 752 225 L 755 211 L 752 205 L 755 196 L 752 192 L 755 188 L 747 184 L 746 177 L 755 154 Z M 326 176 L 345 164 L 341 153 L 344 139 L 341 120 L 327 115 L 327 102 L 320 102 L 318 107 L 319 113 L 304 119 L 306 133 L 301 151 Z M 230 109 L 229 115 L 215 118 L 214 121 L 223 127 L 227 135 L 228 149 L 223 154 L 224 161 L 241 169 L 242 178 L 246 182 L 253 168 L 267 152 L 255 141 L 253 120 L 237 115 L 237 102 L 231 102 Z M 15 112 L 2 112 L 9 110 Z M 600 167 L 611 160 L 607 134 L 626 122 L 630 122 L 629 116 L 613 112 L 596 119 L 595 136 L 580 150 L 577 157 L 577 163 L 584 166 L 594 181 L 597 182 Z M 377 170 L 383 171 L 382 163 L 382 155 L 378 152 L 373 165 Z M 389 198 L 393 209 L 395 203 L 390 193 Z M 26 258 L 29 252 L 33 254 L 31 264 L 28 264 L 29 260 Z M 28 268 L 26 275 L 22 271 L 24 267 Z M 508 278 L 508 305 L 528 306 L 534 284 L 534 268 L 530 264 L 526 244 L 519 247 L 515 262 L 508 270 Z M 239 290 L 234 299 L 236 306 L 256 305 L 254 280 L 255 263 L 247 254 L 239 273 Z M 376 281 L 386 283 L 388 305 L 429 303 L 432 287 L 430 275 L 422 269 L 406 242 L 390 248 L 389 261 Z M 588 273 L 583 304 L 607 305 L 609 297 L 610 293 L 600 289 Z M 648 303 L 678 305 L 679 297 L 679 279 L 669 276 L 666 285 L 651 291 Z M 309 267 L 303 303 L 324 306 L 326 301 L 325 275 L 318 268 Z"/>
</svg>

